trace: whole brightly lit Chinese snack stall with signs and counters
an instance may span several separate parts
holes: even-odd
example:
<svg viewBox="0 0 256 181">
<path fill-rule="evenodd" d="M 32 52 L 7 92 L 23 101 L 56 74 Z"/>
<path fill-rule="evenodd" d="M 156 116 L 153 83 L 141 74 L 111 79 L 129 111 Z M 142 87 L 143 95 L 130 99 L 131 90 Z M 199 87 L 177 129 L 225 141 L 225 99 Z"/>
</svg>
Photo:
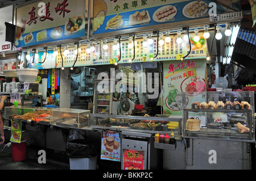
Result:
<svg viewBox="0 0 256 181">
<path fill-rule="evenodd" d="M 45 2 L 47 10 L 58 12 L 59 7 L 61 11 L 59 2 L 53 1 L 51 5 Z M 220 36 L 219 33 L 228 27 L 226 23 L 236 26 L 240 22 L 240 1 L 228 6 L 232 9 L 226 9 L 225 3 L 220 1 L 138 3 L 91 0 L 89 4 L 84 3 L 77 0 L 75 4 L 82 6 L 73 14 L 67 11 L 75 9 L 75 5 L 69 4 L 68 9 L 61 11 L 61 18 L 59 12 L 52 13 L 55 23 L 48 23 L 47 27 L 43 22 L 50 17 L 38 14 L 42 19 L 37 21 L 40 26 L 36 30 L 35 27 L 33 29 L 35 19 L 30 16 L 25 23 L 28 24 L 26 30 L 18 33 L 20 36 L 15 39 L 15 46 L 24 50 L 22 54 L 35 57 L 38 48 L 38 62 L 30 58 L 26 61 L 27 67 L 51 69 L 47 77 L 51 81 L 65 75 L 64 86 L 61 83 L 56 85 L 57 81 L 46 83 L 51 89 L 51 96 L 62 87 L 65 89 L 63 97 L 70 96 L 67 92 L 72 87 L 65 84 L 72 78 L 69 68 L 88 66 L 98 75 L 93 80 L 93 113 L 66 105 L 50 110 L 47 121 L 44 120 L 46 117 L 34 117 L 32 123 L 35 124 L 27 126 L 24 119 L 26 127 L 33 127 L 35 132 L 43 124 L 46 148 L 65 151 L 65 144 L 71 137 L 86 137 L 94 140 L 99 148 L 98 163 L 102 160 L 113 161 L 117 165 L 121 163 L 119 169 L 251 168 L 254 95 L 251 92 L 206 91 L 210 81 L 207 69 L 212 64 L 206 58 L 213 57 L 216 48 L 212 42 L 217 33 Z M 57 6 L 57 10 L 53 10 L 53 6 Z M 16 8 L 16 26 L 23 26 L 22 17 L 26 12 L 32 13 L 34 7 L 38 7 L 37 3 Z M 84 12 L 84 7 L 88 11 Z M 80 10 L 85 16 L 80 16 Z M 64 14 L 68 18 L 64 18 Z M 212 40 L 204 35 L 208 30 Z M 57 54 L 53 56 L 55 52 Z M 195 102 L 233 103 L 235 94 L 236 100 L 246 101 L 250 108 L 203 109 L 200 105 L 192 108 Z M 141 102 L 135 103 L 138 98 Z M 139 105 L 145 106 L 152 100 L 161 100 L 160 113 L 148 116 L 150 111 L 137 110 Z M 65 101 L 60 95 L 60 103 Z M 150 105 L 156 107 L 156 104 Z M 11 115 L 23 116 L 28 108 L 5 109 L 6 119 L 11 119 Z M 38 110 L 42 112 L 41 107 Z M 35 111 L 32 108 L 32 112 Z M 136 111 L 146 113 L 134 115 Z M 240 132 L 238 122 L 246 125 L 242 128 L 245 132 Z M 196 130 L 187 129 L 187 124 L 194 123 Z M 158 135 L 161 142 L 155 142 Z M 59 140 L 57 144 L 53 137 Z M 165 144 L 162 142 L 164 138 L 175 139 L 175 142 Z M 226 153 L 228 148 L 236 151 Z M 210 151 L 217 151 L 218 157 L 213 155 L 217 163 L 209 161 Z M 128 154 L 136 155 L 138 160 L 127 158 Z M 138 164 L 134 164 L 137 161 Z"/>
</svg>

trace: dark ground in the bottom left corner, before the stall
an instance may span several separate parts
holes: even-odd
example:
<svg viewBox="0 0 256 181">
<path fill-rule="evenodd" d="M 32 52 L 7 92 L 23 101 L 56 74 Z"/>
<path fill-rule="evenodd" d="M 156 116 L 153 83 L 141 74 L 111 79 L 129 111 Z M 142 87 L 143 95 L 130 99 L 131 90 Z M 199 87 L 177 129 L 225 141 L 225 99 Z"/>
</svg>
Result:
<svg viewBox="0 0 256 181">
<path fill-rule="evenodd" d="M 14 162 L 10 153 L 0 152 L 0 170 L 69 170 L 68 166 L 52 162 L 38 163 L 37 159 L 27 158 L 24 161 Z"/>
</svg>

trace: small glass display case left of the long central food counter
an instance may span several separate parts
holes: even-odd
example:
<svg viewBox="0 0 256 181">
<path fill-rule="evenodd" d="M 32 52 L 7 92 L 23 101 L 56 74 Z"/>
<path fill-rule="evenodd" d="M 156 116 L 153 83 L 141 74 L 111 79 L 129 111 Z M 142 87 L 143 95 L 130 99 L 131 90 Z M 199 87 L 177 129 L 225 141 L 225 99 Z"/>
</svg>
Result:
<svg viewBox="0 0 256 181">
<path fill-rule="evenodd" d="M 56 108 L 52 111 L 53 124 L 67 128 L 83 128 L 88 126 L 90 110 L 72 108 Z"/>
</svg>

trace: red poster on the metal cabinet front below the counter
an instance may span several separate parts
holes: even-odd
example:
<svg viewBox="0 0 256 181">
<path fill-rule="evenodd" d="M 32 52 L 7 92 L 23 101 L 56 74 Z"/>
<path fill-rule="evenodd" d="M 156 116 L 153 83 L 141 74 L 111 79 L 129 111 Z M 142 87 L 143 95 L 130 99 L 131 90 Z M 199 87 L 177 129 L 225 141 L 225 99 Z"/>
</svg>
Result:
<svg viewBox="0 0 256 181">
<path fill-rule="evenodd" d="M 144 151 L 123 149 L 124 170 L 144 170 Z"/>
</svg>

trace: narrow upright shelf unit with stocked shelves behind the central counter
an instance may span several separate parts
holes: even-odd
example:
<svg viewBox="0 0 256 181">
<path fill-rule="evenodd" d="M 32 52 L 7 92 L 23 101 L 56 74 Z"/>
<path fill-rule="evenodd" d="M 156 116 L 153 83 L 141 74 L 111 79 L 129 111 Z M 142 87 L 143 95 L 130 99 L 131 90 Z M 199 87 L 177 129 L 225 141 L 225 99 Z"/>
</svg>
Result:
<svg viewBox="0 0 256 181">
<path fill-rule="evenodd" d="M 100 85 L 101 81 L 94 81 L 93 113 L 112 113 L 113 93 L 110 92 L 110 82 Z"/>
</svg>

